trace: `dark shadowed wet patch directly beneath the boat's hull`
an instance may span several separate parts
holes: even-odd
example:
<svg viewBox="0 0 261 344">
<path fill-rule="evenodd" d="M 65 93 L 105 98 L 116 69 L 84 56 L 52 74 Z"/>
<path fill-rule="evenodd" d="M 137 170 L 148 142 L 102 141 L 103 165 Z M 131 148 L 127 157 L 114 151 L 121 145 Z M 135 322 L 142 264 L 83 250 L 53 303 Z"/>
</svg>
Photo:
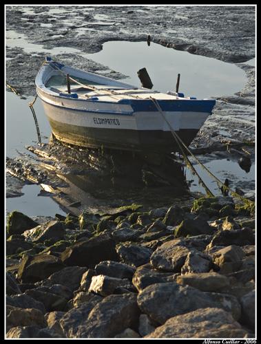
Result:
<svg viewBox="0 0 261 344">
<path fill-rule="evenodd" d="M 53 198 L 65 212 L 107 213 L 132 203 L 157 208 L 189 195 L 182 165 L 171 155 L 162 158 L 106 151 L 101 161 L 98 151 L 92 150 L 90 155 L 92 161 L 96 158 L 94 164 L 81 164 L 79 172 L 57 173 L 68 186 L 59 188 L 61 193 Z"/>
</svg>

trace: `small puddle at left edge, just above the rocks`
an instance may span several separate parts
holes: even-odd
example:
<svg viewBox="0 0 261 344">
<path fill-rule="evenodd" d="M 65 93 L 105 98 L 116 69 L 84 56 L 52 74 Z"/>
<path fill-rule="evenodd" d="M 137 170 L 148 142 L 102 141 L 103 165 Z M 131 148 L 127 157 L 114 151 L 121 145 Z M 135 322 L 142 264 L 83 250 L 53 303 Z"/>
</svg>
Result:
<svg viewBox="0 0 261 344">
<path fill-rule="evenodd" d="M 6 211 L 20 211 L 28 216 L 51 216 L 56 213 L 66 215 L 51 197 L 37 196 L 41 191 L 41 186 L 25 185 L 21 197 L 6 199 Z"/>
</svg>

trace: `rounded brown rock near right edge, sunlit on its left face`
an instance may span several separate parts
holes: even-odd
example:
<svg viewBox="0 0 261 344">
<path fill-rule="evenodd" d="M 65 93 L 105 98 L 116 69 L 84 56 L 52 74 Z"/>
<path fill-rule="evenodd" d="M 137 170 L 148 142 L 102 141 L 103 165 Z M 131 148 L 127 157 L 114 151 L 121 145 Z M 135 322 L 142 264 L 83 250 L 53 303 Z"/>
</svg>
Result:
<svg viewBox="0 0 261 344">
<path fill-rule="evenodd" d="M 245 254 L 240 246 L 231 245 L 213 254 L 213 262 L 220 268 L 220 273 L 230 273 L 239 270 Z"/>
</svg>

